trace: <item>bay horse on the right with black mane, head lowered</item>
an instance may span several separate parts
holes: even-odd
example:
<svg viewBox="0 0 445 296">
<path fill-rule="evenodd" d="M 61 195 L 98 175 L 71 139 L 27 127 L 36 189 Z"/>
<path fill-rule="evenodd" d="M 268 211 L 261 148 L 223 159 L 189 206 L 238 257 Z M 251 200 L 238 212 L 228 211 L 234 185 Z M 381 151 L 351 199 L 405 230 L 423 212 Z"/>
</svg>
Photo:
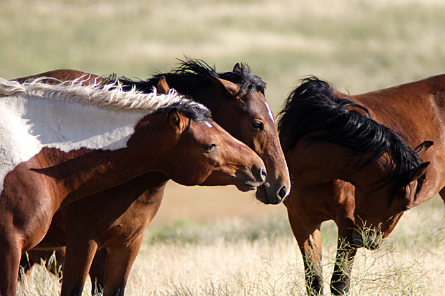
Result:
<svg viewBox="0 0 445 296">
<path fill-rule="evenodd" d="M 323 295 L 323 221 L 339 229 L 331 293 L 343 295 L 358 247 L 378 248 L 405 211 L 445 197 L 444 105 L 445 75 L 357 95 L 309 77 L 286 98 L 278 126 L 293 187 L 284 204 L 309 295 Z"/>
</svg>

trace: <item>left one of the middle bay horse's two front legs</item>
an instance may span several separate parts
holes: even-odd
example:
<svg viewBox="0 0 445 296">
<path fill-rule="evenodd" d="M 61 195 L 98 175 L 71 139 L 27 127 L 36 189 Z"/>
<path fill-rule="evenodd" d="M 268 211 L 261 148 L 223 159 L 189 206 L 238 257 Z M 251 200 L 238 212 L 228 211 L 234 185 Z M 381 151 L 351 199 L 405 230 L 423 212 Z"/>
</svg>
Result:
<svg viewBox="0 0 445 296">
<path fill-rule="evenodd" d="M 92 259 L 97 250 L 94 241 L 67 243 L 61 296 L 82 295 Z"/>
</svg>

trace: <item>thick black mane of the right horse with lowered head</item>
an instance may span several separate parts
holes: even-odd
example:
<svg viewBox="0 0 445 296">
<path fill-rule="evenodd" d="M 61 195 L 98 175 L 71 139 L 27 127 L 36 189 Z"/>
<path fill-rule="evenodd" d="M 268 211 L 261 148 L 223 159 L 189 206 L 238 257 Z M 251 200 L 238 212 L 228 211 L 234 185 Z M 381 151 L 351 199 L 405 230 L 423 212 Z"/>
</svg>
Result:
<svg viewBox="0 0 445 296">
<path fill-rule="evenodd" d="M 329 83 L 316 77 L 302 80 L 301 85 L 286 98 L 278 129 L 284 153 L 308 134 L 309 145 L 326 141 L 348 148 L 352 156 L 369 155 L 363 166 L 388 153 L 393 170 L 382 181 L 387 184 L 394 182 L 391 193 L 406 186 L 407 173 L 423 163 L 400 134 L 371 119 L 366 107 L 349 98 L 339 97 Z M 416 194 L 424 180 L 424 176 L 419 178 Z M 394 195 L 391 194 L 389 202 Z"/>
</svg>

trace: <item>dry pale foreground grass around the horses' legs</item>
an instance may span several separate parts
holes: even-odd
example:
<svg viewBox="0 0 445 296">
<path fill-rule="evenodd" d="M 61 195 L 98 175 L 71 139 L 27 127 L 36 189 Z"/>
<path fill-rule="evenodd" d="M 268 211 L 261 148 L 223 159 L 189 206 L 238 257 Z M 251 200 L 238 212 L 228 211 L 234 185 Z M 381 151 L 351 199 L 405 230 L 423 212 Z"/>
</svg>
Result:
<svg viewBox="0 0 445 296">
<path fill-rule="evenodd" d="M 359 249 L 351 295 L 443 295 L 444 204 L 438 197 L 409 211 L 379 250 Z M 325 223 L 325 291 L 337 229 Z M 90 290 L 90 282 L 86 291 Z M 19 295 L 57 295 L 60 284 L 35 268 Z M 304 270 L 287 220 L 269 216 L 201 224 L 178 220 L 152 229 L 131 271 L 126 295 L 305 295 Z M 85 295 L 88 295 L 85 292 Z"/>
</svg>

